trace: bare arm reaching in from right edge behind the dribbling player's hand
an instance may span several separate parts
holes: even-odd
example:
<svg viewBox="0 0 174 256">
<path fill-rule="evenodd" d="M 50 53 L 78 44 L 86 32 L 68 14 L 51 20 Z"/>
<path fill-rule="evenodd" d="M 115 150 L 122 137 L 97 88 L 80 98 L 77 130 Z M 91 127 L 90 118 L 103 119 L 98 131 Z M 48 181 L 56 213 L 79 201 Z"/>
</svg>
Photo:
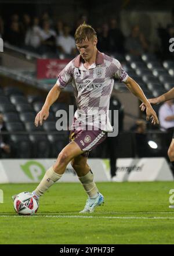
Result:
<svg viewBox="0 0 174 256">
<path fill-rule="evenodd" d="M 150 102 L 150 104 L 155 105 L 155 104 L 160 104 L 161 102 L 164 102 L 164 101 L 169 101 L 169 99 L 174 99 L 174 87 L 171 90 L 169 90 L 167 93 L 164 93 L 157 98 L 148 99 L 148 101 Z M 140 105 L 140 109 L 141 111 L 144 111 L 144 109 L 146 109 L 146 106 L 142 103 Z"/>
</svg>

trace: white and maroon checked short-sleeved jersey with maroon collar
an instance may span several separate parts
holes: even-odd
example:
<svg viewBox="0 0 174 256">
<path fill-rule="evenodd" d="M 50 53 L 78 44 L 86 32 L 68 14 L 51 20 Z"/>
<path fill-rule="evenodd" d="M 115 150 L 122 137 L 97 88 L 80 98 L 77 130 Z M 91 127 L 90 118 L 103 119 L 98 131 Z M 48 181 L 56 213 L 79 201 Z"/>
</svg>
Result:
<svg viewBox="0 0 174 256">
<path fill-rule="evenodd" d="M 110 97 L 114 78 L 126 81 L 128 74 L 117 59 L 97 51 L 96 63 L 87 70 L 78 55 L 60 72 L 57 85 L 64 88 L 72 83 L 78 109 L 75 120 L 78 126 L 95 126 L 104 131 L 113 131 L 108 118 Z M 75 125 L 74 125 L 75 126 Z"/>
</svg>

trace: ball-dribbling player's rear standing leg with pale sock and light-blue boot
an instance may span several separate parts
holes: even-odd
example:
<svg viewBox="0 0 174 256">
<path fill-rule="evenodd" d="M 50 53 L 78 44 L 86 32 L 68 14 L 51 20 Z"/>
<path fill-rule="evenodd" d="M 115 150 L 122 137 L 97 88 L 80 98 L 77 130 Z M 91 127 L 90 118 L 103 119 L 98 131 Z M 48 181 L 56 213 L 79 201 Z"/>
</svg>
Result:
<svg viewBox="0 0 174 256">
<path fill-rule="evenodd" d="M 102 205 L 104 202 L 103 195 L 99 193 L 97 186 L 94 182 L 93 173 L 87 163 L 87 157 L 84 154 L 75 157 L 71 161 L 75 172 L 78 175 L 79 181 L 84 186 L 86 193 L 88 194 L 88 200 L 84 209 L 80 213 L 93 212 L 95 207 Z"/>
</svg>

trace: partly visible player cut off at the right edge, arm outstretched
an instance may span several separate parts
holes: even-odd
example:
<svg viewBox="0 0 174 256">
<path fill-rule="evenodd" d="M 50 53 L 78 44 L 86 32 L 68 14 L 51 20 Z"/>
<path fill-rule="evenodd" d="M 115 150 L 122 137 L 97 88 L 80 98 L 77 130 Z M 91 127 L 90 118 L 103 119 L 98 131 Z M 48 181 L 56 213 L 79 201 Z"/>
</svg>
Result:
<svg viewBox="0 0 174 256">
<path fill-rule="evenodd" d="M 150 104 L 155 105 L 155 104 L 160 104 L 161 102 L 169 101 L 169 99 L 174 99 L 174 87 L 171 90 L 169 90 L 167 93 L 164 93 L 157 98 L 148 99 L 148 101 L 150 102 Z M 146 109 L 146 106 L 144 105 L 144 103 L 140 105 L 140 108 L 142 111 Z M 171 116 L 171 120 L 172 119 L 174 119 L 174 116 Z M 168 149 L 168 157 L 174 168 L 174 132 L 173 132 L 171 145 L 169 146 L 169 149 Z M 169 208 L 174 209 L 174 205 L 169 205 Z"/>
</svg>

